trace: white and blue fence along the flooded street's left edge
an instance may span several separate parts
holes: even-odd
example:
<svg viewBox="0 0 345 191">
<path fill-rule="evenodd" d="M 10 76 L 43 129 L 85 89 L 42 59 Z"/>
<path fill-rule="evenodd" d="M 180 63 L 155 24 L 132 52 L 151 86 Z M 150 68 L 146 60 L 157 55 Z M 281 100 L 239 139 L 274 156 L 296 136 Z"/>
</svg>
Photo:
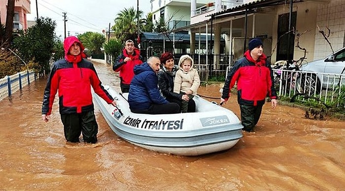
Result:
<svg viewBox="0 0 345 191">
<path fill-rule="evenodd" d="M 32 70 L 22 71 L 11 76 L 0 79 L 0 100 L 21 90 L 36 80 L 35 72 Z"/>
</svg>

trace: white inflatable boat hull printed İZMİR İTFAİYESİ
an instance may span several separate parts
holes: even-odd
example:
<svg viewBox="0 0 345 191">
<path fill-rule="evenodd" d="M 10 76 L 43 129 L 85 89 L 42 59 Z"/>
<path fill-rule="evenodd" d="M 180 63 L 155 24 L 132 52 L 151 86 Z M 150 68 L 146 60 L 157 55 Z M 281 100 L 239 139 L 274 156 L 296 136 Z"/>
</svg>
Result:
<svg viewBox="0 0 345 191">
<path fill-rule="evenodd" d="M 233 147 L 242 135 L 234 112 L 195 96 L 195 113 L 148 115 L 132 113 L 128 94 L 104 87 L 117 108 L 94 94 L 106 122 L 121 138 L 140 147 L 174 155 L 197 156 Z"/>
</svg>

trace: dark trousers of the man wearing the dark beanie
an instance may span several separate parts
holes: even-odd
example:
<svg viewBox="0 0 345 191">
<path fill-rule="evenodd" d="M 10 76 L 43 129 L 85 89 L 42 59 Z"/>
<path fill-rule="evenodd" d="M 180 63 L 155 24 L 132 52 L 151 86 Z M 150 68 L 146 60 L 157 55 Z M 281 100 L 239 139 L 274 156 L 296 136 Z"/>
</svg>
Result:
<svg viewBox="0 0 345 191">
<path fill-rule="evenodd" d="M 263 105 L 240 105 L 242 130 L 252 131 L 258 123 Z"/>
</svg>

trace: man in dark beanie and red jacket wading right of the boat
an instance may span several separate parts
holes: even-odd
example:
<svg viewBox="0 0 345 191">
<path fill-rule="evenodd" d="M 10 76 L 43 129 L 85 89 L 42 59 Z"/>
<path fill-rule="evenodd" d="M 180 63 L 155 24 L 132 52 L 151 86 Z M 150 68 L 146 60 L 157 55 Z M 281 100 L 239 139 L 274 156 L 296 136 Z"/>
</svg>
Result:
<svg viewBox="0 0 345 191">
<path fill-rule="evenodd" d="M 271 97 L 272 108 L 276 108 L 277 101 L 273 71 L 263 53 L 262 41 L 259 38 L 251 39 L 248 47 L 244 57 L 236 61 L 228 73 L 220 102 L 227 102 L 230 90 L 237 82 L 243 130 L 250 132 L 259 121 L 266 96 Z"/>
</svg>

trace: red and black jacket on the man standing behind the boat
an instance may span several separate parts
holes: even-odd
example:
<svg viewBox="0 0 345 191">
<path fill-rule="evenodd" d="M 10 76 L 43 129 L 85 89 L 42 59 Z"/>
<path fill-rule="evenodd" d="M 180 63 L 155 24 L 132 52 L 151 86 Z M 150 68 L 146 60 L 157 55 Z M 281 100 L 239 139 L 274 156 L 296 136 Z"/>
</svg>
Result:
<svg viewBox="0 0 345 191">
<path fill-rule="evenodd" d="M 126 57 L 131 58 L 131 60 L 125 63 L 123 60 L 125 60 Z M 138 48 L 134 48 L 133 55 L 129 55 L 126 49 L 123 49 L 122 54 L 115 60 L 112 69 L 120 73 L 122 84 L 130 85 L 134 77 L 134 66 L 138 64 L 142 64 L 140 50 Z"/>
</svg>

